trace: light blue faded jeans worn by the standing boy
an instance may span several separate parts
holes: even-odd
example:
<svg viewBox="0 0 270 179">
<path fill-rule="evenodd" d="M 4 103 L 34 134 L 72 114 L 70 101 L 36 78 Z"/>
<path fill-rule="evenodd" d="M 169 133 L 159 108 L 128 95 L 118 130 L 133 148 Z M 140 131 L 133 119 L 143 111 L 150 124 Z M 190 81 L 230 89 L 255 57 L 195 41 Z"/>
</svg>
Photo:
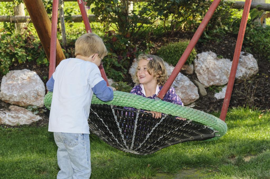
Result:
<svg viewBox="0 0 270 179">
<path fill-rule="evenodd" d="M 89 134 L 54 132 L 58 146 L 57 162 L 60 171 L 57 179 L 90 178 Z"/>
</svg>

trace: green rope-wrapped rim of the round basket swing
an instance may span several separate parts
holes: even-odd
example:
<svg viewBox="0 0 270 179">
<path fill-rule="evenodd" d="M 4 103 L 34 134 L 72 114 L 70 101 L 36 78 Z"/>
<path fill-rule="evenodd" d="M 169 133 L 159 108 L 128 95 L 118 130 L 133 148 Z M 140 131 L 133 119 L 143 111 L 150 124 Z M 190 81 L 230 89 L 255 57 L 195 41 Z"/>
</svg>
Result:
<svg viewBox="0 0 270 179">
<path fill-rule="evenodd" d="M 216 137 L 209 140 L 219 139 L 227 132 L 227 125 L 224 121 L 203 111 L 199 111 L 197 109 L 185 106 L 180 106 L 162 100 L 155 101 L 154 99 L 149 99 L 136 94 L 130 94 L 122 91 L 114 91 L 113 94 L 114 94 L 113 100 L 109 102 L 101 101 L 96 97 L 96 95 L 93 95 L 91 104 L 102 104 L 102 105 L 106 104 L 121 107 L 127 106 L 187 118 L 192 121 L 199 122 L 205 126 L 210 126 L 214 130 L 219 132 Z M 51 102 L 52 102 L 52 92 L 48 92 L 44 98 L 44 105 L 48 109 L 50 109 Z"/>
</svg>

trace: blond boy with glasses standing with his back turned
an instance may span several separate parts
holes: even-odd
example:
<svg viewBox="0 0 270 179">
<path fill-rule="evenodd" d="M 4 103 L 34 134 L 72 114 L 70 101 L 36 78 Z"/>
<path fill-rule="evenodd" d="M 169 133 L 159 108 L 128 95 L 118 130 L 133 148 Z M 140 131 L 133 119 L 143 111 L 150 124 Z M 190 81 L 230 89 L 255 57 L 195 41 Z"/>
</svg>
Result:
<svg viewBox="0 0 270 179">
<path fill-rule="evenodd" d="M 90 140 L 87 119 L 93 93 L 102 101 L 113 99 L 98 66 L 107 55 L 103 40 L 93 33 L 80 36 L 75 43 L 75 58 L 62 60 L 46 83 L 53 91 L 49 132 L 58 146 L 57 178 L 90 178 Z"/>
</svg>

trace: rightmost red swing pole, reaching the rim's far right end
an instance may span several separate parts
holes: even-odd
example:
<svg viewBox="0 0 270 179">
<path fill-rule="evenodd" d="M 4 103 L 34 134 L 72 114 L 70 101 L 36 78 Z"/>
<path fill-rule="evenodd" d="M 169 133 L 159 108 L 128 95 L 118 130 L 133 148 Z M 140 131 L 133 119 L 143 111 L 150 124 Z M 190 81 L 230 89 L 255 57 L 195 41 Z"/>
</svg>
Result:
<svg viewBox="0 0 270 179">
<path fill-rule="evenodd" d="M 226 89 L 226 93 L 225 93 L 225 98 L 224 98 L 221 113 L 220 113 L 220 119 L 222 121 L 225 121 L 228 107 L 229 107 L 229 103 L 230 103 L 230 99 L 231 99 L 232 88 L 234 86 L 235 75 L 236 75 L 236 71 L 237 71 L 239 57 L 240 57 L 240 53 L 241 53 L 241 49 L 242 49 L 242 43 L 243 43 L 245 30 L 246 30 L 246 26 L 247 26 L 250 5 L 251 5 L 251 0 L 246 0 L 245 6 L 244 6 L 244 11 L 242 14 L 240 27 L 239 27 L 238 37 L 237 37 L 237 41 L 236 41 L 236 45 L 235 45 L 234 57 L 232 59 L 232 67 L 231 67 L 231 72 L 230 72 L 230 76 L 229 76 L 229 81 L 228 81 L 228 85 L 227 85 L 227 89 Z"/>
</svg>

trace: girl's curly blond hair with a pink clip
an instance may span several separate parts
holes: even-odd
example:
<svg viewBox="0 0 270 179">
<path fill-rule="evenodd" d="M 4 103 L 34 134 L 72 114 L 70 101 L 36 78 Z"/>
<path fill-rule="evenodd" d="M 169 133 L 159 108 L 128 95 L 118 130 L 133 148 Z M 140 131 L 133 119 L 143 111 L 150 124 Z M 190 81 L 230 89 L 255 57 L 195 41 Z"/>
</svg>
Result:
<svg viewBox="0 0 270 179">
<path fill-rule="evenodd" d="M 154 73 L 154 80 L 157 80 L 157 84 L 163 86 L 165 82 L 168 80 L 168 73 L 163 61 L 163 58 L 156 56 L 156 55 L 149 55 L 149 54 L 140 54 L 137 58 L 137 62 L 139 63 L 140 60 L 147 60 L 147 71 L 150 75 Z M 139 79 L 137 77 L 138 68 L 136 69 L 136 75 L 134 80 L 136 84 L 139 84 Z"/>
</svg>

